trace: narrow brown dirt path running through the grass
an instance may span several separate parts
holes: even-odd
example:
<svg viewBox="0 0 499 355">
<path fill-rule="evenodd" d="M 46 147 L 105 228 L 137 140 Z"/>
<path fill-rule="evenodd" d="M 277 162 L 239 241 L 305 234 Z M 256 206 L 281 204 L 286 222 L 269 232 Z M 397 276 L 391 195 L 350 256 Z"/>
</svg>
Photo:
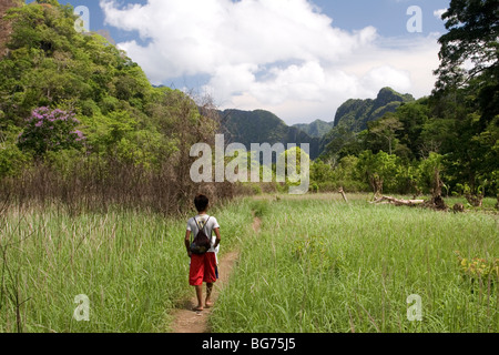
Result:
<svg viewBox="0 0 499 355">
<path fill-rule="evenodd" d="M 261 229 L 262 221 L 258 217 L 254 219 L 253 230 L 258 233 Z M 220 278 L 215 283 L 213 288 L 212 298 L 216 303 L 218 298 L 220 291 L 227 284 L 231 277 L 232 270 L 236 261 L 240 258 L 240 252 L 234 251 L 225 254 L 220 260 L 218 273 Z M 194 290 L 193 290 L 194 293 Z M 203 294 L 206 294 L 206 288 L 204 287 Z M 204 310 L 203 312 L 193 312 L 192 310 L 197 305 L 197 300 L 193 298 L 186 301 L 182 310 L 177 310 L 173 313 L 174 321 L 172 323 L 172 333 L 210 333 L 208 318 L 212 310 Z"/>
</svg>

